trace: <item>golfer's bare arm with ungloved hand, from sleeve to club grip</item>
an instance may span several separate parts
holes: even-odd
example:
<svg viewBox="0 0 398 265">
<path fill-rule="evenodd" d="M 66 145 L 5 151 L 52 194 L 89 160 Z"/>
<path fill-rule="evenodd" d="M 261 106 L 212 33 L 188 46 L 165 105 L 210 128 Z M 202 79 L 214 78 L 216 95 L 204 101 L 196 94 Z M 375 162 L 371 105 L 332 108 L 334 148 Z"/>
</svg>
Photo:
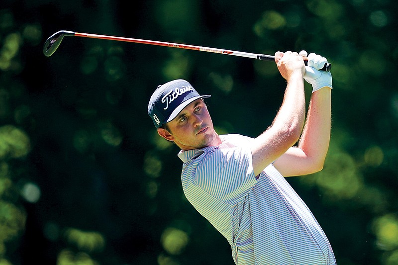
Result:
<svg viewBox="0 0 398 265">
<path fill-rule="evenodd" d="M 287 81 L 284 100 L 273 124 L 252 142 L 253 172 L 257 176 L 292 147 L 300 136 L 305 117 L 304 62 L 297 53 L 277 52 L 278 70 Z"/>
</svg>

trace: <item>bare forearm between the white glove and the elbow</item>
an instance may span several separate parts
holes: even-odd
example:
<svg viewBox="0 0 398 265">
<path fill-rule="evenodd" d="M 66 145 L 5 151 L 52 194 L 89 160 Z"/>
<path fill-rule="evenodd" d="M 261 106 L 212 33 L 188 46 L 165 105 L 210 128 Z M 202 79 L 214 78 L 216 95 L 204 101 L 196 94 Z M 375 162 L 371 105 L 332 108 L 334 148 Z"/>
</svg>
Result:
<svg viewBox="0 0 398 265">
<path fill-rule="evenodd" d="M 298 143 L 313 170 L 323 168 L 330 141 L 331 89 L 321 88 L 311 95 L 305 126 Z"/>
</svg>

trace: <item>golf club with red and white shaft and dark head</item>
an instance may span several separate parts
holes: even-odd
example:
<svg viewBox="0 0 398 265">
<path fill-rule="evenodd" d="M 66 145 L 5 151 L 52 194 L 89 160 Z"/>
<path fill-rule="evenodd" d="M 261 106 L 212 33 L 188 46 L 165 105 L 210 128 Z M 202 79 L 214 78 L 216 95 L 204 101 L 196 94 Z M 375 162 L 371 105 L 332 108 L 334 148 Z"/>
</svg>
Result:
<svg viewBox="0 0 398 265">
<path fill-rule="evenodd" d="M 90 33 L 80 33 L 80 32 L 67 31 L 67 30 L 58 31 L 58 32 L 54 33 L 53 35 L 51 35 L 46 40 L 46 42 L 44 43 L 44 47 L 43 47 L 44 55 L 47 57 L 51 56 L 57 50 L 58 46 L 61 44 L 61 41 L 65 36 L 134 42 L 134 43 L 174 47 L 174 48 L 180 48 L 180 49 L 197 50 L 197 51 L 203 51 L 203 52 L 234 55 L 234 56 L 263 60 L 263 61 L 275 61 L 275 56 L 272 56 L 272 55 L 238 52 L 238 51 L 232 51 L 232 50 L 222 50 L 222 49 L 217 49 L 217 48 L 179 44 L 179 43 L 172 43 L 172 42 L 133 39 L 133 38 L 115 37 L 115 36 L 109 36 L 109 35 L 98 35 L 98 34 L 90 34 Z M 306 65 L 308 59 L 307 59 L 307 57 L 304 57 L 303 59 L 304 59 L 305 65 Z M 328 63 L 321 70 L 329 72 L 331 67 L 332 67 L 332 65 L 330 63 Z"/>
</svg>

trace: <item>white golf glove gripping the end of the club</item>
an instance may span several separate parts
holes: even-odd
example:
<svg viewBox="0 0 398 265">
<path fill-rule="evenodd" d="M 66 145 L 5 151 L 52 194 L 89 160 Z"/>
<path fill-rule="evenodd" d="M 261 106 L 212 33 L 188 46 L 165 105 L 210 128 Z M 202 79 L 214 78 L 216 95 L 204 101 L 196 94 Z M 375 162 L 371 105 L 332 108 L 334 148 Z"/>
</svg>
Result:
<svg viewBox="0 0 398 265">
<path fill-rule="evenodd" d="M 306 51 L 300 51 L 298 54 L 307 56 Z M 308 63 L 305 66 L 304 80 L 311 84 L 312 93 L 320 88 L 332 88 L 332 74 L 326 71 L 319 71 L 327 64 L 326 58 L 314 53 L 310 53 L 307 57 Z"/>
</svg>

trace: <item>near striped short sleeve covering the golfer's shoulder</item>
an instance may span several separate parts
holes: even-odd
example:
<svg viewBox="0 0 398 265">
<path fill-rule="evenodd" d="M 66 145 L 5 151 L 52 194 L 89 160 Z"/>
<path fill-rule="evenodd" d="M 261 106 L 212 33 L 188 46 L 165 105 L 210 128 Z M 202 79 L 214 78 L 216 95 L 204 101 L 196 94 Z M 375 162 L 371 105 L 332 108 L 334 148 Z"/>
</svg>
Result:
<svg viewBox="0 0 398 265">
<path fill-rule="evenodd" d="M 257 183 L 247 146 L 213 149 L 200 161 L 196 177 L 202 189 L 231 204 L 241 201 Z"/>
</svg>

